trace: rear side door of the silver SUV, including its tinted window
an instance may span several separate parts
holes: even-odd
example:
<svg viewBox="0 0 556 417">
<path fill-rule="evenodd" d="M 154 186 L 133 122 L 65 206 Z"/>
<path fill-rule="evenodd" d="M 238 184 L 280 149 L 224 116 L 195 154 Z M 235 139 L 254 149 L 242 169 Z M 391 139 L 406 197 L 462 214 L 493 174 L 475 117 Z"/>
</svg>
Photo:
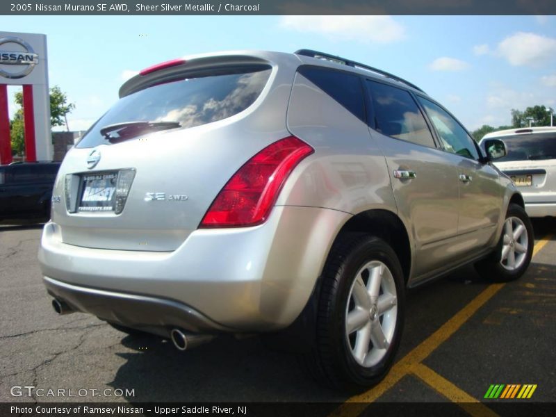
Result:
<svg viewBox="0 0 556 417">
<path fill-rule="evenodd" d="M 430 127 L 407 90 L 366 81 L 371 136 L 382 147 L 398 213 L 413 235 L 414 276 L 457 255 L 445 243 L 457 236 L 459 188 L 451 155 L 436 147 Z"/>
</svg>

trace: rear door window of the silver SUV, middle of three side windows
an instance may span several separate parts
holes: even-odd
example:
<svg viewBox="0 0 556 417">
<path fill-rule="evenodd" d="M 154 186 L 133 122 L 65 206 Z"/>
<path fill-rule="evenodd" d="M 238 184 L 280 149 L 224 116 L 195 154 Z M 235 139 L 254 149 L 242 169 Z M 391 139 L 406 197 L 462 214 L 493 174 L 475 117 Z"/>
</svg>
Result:
<svg viewBox="0 0 556 417">
<path fill-rule="evenodd" d="M 409 92 L 375 81 L 367 81 L 367 85 L 377 131 L 417 145 L 435 147 L 425 117 Z"/>
</svg>

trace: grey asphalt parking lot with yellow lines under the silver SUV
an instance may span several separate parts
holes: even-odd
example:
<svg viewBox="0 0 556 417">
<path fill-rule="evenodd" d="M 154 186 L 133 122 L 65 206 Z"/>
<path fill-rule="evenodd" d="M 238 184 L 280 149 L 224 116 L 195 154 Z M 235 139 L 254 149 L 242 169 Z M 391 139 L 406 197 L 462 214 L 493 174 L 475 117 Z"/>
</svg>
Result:
<svg viewBox="0 0 556 417">
<path fill-rule="evenodd" d="M 534 228 L 534 257 L 520 280 L 490 284 L 470 267 L 410 291 L 397 363 L 384 382 L 350 398 L 322 389 L 295 357 L 266 349 L 256 337 L 222 337 L 182 353 L 82 313 L 56 316 L 36 261 L 42 225 L 0 224 L 0 402 L 452 401 L 465 409 L 481 401 L 487 416 L 496 415 L 489 402 L 503 401 L 484 400 L 491 384 L 536 384 L 530 400 L 514 401 L 552 402 L 556 221 Z M 13 386 L 89 392 L 13 396 Z M 99 395 L 104 389 L 112 395 Z"/>
</svg>

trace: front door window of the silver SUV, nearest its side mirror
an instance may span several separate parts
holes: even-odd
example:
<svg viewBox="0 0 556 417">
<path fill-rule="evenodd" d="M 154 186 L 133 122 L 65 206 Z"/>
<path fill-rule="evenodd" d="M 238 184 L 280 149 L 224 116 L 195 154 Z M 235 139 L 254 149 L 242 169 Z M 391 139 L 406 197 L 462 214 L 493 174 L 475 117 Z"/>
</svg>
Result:
<svg viewBox="0 0 556 417">
<path fill-rule="evenodd" d="M 454 117 L 432 101 L 423 97 L 418 97 L 418 100 L 425 107 L 425 111 L 427 111 L 432 124 L 434 124 L 436 131 L 438 131 L 445 151 L 465 156 L 466 158 L 479 159 L 479 153 L 473 138 L 468 135 Z"/>
</svg>

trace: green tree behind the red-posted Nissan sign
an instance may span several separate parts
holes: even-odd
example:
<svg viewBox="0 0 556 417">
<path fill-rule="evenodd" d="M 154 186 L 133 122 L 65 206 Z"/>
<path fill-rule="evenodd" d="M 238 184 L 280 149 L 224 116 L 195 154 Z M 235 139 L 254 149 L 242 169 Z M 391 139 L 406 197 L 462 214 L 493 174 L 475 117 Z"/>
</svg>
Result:
<svg viewBox="0 0 556 417">
<path fill-rule="evenodd" d="M 24 119 L 23 119 L 23 93 L 15 93 L 15 104 L 19 106 L 12 120 L 10 120 L 10 136 L 12 152 L 22 155 L 24 152 Z M 52 126 L 65 125 L 65 116 L 72 112 L 75 104 L 67 102 L 67 95 L 58 85 L 50 89 L 50 123 Z"/>
</svg>

